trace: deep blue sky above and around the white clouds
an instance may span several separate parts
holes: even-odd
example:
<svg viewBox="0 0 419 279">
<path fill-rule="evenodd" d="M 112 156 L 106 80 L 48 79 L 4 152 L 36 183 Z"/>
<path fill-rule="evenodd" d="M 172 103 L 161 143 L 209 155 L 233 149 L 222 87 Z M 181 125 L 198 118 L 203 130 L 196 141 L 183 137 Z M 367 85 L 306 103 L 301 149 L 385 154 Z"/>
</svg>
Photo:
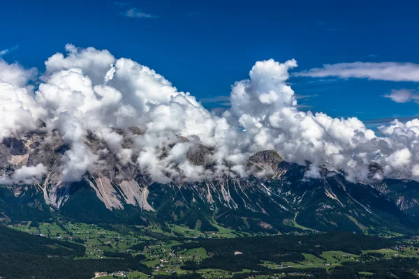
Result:
<svg viewBox="0 0 419 279">
<path fill-rule="evenodd" d="M 209 100 L 228 96 L 263 59 L 294 58 L 294 72 L 355 61 L 419 64 L 418 8 L 413 1 L 3 1 L 0 51 L 10 51 L 0 55 L 42 71 L 66 43 L 108 49 Z M 416 96 L 415 78 L 335 75 L 289 82 L 305 96 L 299 100 L 304 110 L 378 119 L 369 123 L 418 115 L 417 103 L 383 97 L 399 89 Z M 204 105 L 225 103 L 217 100 Z"/>
</svg>

